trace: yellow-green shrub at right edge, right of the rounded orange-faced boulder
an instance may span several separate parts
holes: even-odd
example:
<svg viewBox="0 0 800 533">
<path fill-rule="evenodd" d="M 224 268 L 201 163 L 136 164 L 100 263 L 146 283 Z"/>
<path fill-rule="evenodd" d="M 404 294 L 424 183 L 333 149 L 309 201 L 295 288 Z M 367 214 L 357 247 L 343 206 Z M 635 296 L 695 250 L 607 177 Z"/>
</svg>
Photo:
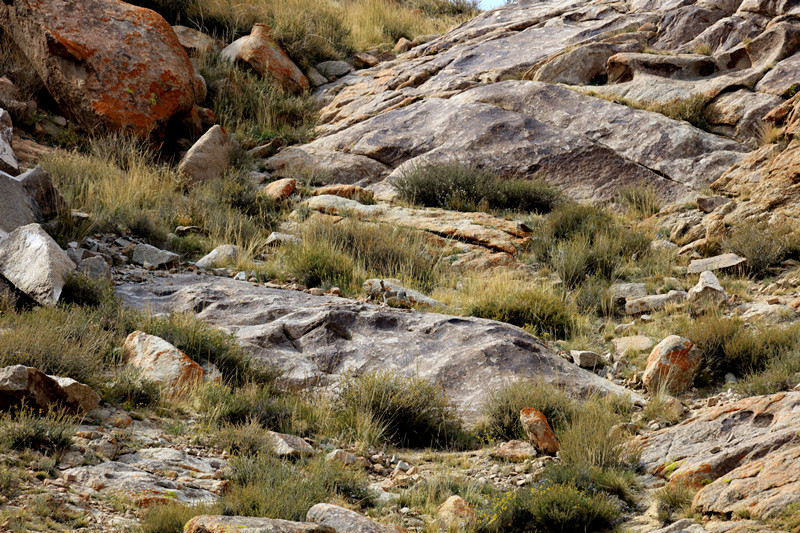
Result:
<svg viewBox="0 0 800 533">
<path fill-rule="evenodd" d="M 715 377 L 728 372 L 739 376 L 760 372 L 800 342 L 800 326 L 753 328 L 739 318 L 716 314 L 686 321 L 679 331 L 700 349 Z"/>
</svg>

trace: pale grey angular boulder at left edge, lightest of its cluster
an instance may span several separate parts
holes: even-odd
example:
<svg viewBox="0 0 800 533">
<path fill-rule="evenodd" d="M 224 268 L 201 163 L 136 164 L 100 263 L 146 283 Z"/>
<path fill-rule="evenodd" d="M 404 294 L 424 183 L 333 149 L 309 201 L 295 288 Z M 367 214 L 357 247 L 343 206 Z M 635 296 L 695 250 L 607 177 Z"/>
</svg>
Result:
<svg viewBox="0 0 800 533">
<path fill-rule="evenodd" d="M 0 241 L 0 274 L 41 305 L 55 305 L 75 263 L 39 224 Z"/>
</svg>

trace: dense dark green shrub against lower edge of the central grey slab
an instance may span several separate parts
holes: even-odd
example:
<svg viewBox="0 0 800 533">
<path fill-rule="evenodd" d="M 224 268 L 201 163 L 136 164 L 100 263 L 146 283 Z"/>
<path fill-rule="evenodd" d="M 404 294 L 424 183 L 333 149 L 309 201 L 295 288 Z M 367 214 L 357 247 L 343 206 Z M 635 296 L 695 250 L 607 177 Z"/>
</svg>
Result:
<svg viewBox="0 0 800 533">
<path fill-rule="evenodd" d="M 344 413 L 366 413 L 385 425 L 386 438 L 398 446 L 447 447 L 464 439 L 444 389 L 419 377 L 362 374 L 343 383 L 339 401 Z"/>
</svg>

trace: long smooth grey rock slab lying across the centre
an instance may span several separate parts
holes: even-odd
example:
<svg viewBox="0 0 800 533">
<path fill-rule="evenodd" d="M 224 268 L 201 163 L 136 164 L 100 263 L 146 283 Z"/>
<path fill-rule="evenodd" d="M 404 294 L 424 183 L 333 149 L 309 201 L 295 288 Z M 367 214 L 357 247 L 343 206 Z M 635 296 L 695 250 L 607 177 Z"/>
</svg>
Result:
<svg viewBox="0 0 800 533">
<path fill-rule="evenodd" d="M 199 282 L 196 275 L 122 285 L 118 293 L 154 312 L 198 313 L 235 333 L 256 359 L 280 366 L 284 379 L 296 385 L 377 369 L 439 382 L 468 420 L 487 391 L 515 378 L 541 377 L 575 393 L 628 394 L 522 329 L 491 320 L 382 308 L 229 278 Z"/>
</svg>

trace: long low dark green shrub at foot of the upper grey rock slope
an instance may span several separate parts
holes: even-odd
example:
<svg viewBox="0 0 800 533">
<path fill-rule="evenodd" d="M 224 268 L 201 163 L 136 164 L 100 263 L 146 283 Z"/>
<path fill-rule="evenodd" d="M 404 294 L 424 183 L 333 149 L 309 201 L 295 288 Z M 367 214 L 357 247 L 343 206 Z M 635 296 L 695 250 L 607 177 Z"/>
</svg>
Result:
<svg viewBox="0 0 800 533">
<path fill-rule="evenodd" d="M 502 179 L 459 163 L 418 165 L 394 182 L 400 198 L 454 211 L 510 209 L 548 213 L 561 194 L 540 180 Z"/>
</svg>

